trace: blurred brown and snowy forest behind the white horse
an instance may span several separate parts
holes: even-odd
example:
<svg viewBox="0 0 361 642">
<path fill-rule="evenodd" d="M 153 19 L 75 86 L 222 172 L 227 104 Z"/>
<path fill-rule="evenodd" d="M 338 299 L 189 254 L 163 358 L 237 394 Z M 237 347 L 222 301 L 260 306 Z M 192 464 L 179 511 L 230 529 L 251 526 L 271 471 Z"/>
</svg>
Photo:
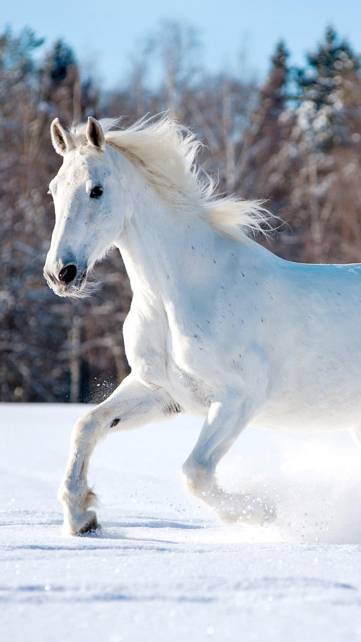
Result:
<svg viewBox="0 0 361 642">
<path fill-rule="evenodd" d="M 328 28 L 303 68 L 279 42 L 261 86 L 240 68 L 213 75 L 197 32 L 163 22 L 118 91 L 81 73 L 58 41 L 43 55 L 31 30 L 0 36 L 0 401 L 101 401 L 127 372 L 121 329 L 131 291 L 118 250 L 98 266 L 91 299 L 60 299 L 42 277 L 57 173 L 49 126 L 87 116 L 170 110 L 205 143 L 222 193 L 269 198 L 285 221 L 270 249 L 292 261 L 361 261 L 360 58 Z M 150 82 L 152 69 L 159 80 Z"/>
</svg>

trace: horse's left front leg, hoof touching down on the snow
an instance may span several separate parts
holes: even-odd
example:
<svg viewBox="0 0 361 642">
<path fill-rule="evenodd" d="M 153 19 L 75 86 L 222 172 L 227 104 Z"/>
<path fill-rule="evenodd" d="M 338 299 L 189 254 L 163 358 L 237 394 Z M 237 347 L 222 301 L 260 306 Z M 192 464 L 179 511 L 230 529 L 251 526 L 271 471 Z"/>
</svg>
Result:
<svg viewBox="0 0 361 642">
<path fill-rule="evenodd" d="M 98 528 L 94 510 L 88 510 L 96 503 L 96 496 L 87 485 L 89 459 L 98 441 L 110 432 L 170 419 L 175 412 L 179 412 L 179 407 L 166 392 L 143 385 L 130 375 L 108 399 L 76 422 L 58 490 L 58 499 L 64 507 L 64 535 L 84 534 Z"/>
</svg>

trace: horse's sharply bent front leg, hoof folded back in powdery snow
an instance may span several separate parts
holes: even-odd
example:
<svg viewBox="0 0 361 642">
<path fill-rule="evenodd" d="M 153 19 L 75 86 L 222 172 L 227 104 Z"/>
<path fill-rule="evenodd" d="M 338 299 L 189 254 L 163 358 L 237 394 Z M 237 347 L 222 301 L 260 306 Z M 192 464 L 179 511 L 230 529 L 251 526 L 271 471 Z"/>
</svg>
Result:
<svg viewBox="0 0 361 642">
<path fill-rule="evenodd" d="M 272 508 L 249 496 L 222 489 L 215 478 L 216 465 L 255 414 L 255 404 L 229 395 L 211 404 L 193 451 L 182 467 L 186 485 L 206 501 L 226 523 L 259 524 L 272 517 Z"/>
</svg>

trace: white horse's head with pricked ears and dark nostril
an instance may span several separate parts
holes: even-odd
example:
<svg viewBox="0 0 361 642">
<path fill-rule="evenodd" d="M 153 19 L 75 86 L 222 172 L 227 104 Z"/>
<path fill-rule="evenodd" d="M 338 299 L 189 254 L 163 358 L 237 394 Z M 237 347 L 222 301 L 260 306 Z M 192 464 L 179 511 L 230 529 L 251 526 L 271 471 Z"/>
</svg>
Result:
<svg viewBox="0 0 361 642">
<path fill-rule="evenodd" d="M 63 297 L 84 295 L 89 271 L 118 238 L 124 220 L 114 151 L 105 144 L 100 123 L 89 117 L 85 132 L 77 134 L 76 128 L 66 132 L 57 118 L 51 124 L 51 140 L 63 164 L 49 184 L 55 227 L 44 277 Z"/>
</svg>

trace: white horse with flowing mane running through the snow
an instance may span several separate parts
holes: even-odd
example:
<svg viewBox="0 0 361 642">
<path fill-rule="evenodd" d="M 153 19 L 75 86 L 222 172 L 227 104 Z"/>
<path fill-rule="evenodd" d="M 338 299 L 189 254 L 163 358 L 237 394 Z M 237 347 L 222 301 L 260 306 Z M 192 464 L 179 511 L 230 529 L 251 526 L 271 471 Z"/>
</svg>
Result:
<svg viewBox="0 0 361 642">
<path fill-rule="evenodd" d="M 247 508 L 215 478 L 248 424 L 344 427 L 361 444 L 361 266 L 279 259 L 247 236 L 267 213 L 216 198 L 189 132 L 167 117 L 114 125 L 51 125 L 64 162 L 50 184 L 49 286 L 84 295 L 89 271 L 115 245 L 134 293 L 123 328 L 132 372 L 75 424 L 58 492 L 63 532 L 98 527 L 87 485 L 97 442 L 179 412 L 204 418 L 183 466 L 188 489 L 225 521 L 261 522 L 266 506 Z"/>
</svg>

